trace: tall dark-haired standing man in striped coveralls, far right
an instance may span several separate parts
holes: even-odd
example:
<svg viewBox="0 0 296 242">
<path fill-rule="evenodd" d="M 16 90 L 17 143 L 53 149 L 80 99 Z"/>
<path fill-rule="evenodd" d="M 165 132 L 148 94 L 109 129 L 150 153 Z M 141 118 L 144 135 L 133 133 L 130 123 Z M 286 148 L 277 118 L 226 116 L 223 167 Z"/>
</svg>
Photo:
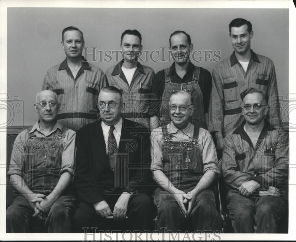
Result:
<svg viewBox="0 0 296 242">
<path fill-rule="evenodd" d="M 220 152 L 223 149 L 223 138 L 244 120 L 240 93 L 249 87 L 268 93 L 268 106 L 271 108 L 268 120 L 273 125 L 281 125 L 280 109 L 274 109 L 274 105 L 271 105 L 278 96 L 274 63 L 270 58 L 251 50 L 253 34 L 249 21 L 232 20 L 229 24 L 229 37 L 234 52 L 218 63 L 212 73 L 209 131 L 215 133 L 216 148 Z"/>
</svg>

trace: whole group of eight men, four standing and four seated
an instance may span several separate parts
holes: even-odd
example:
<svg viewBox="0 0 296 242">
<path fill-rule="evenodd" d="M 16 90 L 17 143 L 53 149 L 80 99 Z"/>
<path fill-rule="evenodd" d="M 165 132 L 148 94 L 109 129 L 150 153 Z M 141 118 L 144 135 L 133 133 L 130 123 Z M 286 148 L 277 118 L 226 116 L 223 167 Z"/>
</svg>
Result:
<svg viewBox="0 0 296 242">
<path fill-rule="evenodd" d="M 184 31 L 170 35 L 174 62 L 156 75 L 137 61 L 141 34 L 124 31 L 123 59 L 104 75 L 82 56 L 83 33 L 65 28 L 66 59 L 36 96 L 39 120 L 14 143 L 8 176 L 18 196 L 7 232 L 30 232 L 43 217 L 48 232 L 110 230 L 110 216 L 128 219 L 133 231 L 177 232 L 185 220 L 193 230 L 219 231 L 217 149 L 234 232 L 276 233 L 289 140 L 279 110 L 270 112 L 275 69 L 250 49 L 249 21 L 231 21 L 229 37 L 234 52 L 212 81 L 191 63 Z"/>
</svg>

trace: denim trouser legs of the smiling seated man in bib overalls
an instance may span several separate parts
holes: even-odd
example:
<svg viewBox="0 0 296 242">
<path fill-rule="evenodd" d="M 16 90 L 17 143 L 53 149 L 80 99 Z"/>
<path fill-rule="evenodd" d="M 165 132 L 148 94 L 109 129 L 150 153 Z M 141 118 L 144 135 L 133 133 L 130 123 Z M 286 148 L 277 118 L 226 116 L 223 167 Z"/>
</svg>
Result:
<svg viewBox="0 0 296 242">
<path fill-rule="evenodd" d="M 157 206 L 155 230 L 160 233 L 177 233 L 184 222 L 178 202 L 173 194 L 157 188 L 153 194 Z M 213 191 L 206 189 L 197 195 L 191 215 L 193 229 L 197 231 L 217 231 L 221 229 L 221 216 L 216 210 Z"/>
</svg>

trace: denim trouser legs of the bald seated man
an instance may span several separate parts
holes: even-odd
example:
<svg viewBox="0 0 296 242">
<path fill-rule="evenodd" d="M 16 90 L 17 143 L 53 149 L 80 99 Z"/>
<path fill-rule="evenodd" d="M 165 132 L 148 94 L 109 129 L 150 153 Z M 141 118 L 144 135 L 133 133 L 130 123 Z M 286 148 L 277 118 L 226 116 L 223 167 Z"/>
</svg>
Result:
<svg viewBox="0 0 296 242">
<path fill-rule="evenodd" d="M 75 210 L 75 198 L 72 196 L 61 196 L 50 208 L 45 226 L 49 233 L 70 233 L 71 220 Z M 31 221 L 34 209 L 28 200 L 18 196 L 12 205 L 6 210 L 6 232 L 7 233 L 31 233 Z M 36 218 L 37 219 L 37 218 Z"/>
</svg>

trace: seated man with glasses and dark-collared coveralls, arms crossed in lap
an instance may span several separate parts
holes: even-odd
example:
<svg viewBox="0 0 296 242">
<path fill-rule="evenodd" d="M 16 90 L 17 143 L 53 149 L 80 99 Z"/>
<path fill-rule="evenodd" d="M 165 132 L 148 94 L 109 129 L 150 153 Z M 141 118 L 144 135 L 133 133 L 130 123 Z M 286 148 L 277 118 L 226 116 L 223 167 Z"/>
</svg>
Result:
<svg viewBox="0 0 296 242">
<path fill-rule="evenodd" d="M 288 133 L 272 126 L 268 94 L 248 88 L 241 93 L 245 121 L 224 139 L 223 176 L 226 200 L 235 233 L 276 233 L 284 215 L 288 179 Z"/>
</svg>

